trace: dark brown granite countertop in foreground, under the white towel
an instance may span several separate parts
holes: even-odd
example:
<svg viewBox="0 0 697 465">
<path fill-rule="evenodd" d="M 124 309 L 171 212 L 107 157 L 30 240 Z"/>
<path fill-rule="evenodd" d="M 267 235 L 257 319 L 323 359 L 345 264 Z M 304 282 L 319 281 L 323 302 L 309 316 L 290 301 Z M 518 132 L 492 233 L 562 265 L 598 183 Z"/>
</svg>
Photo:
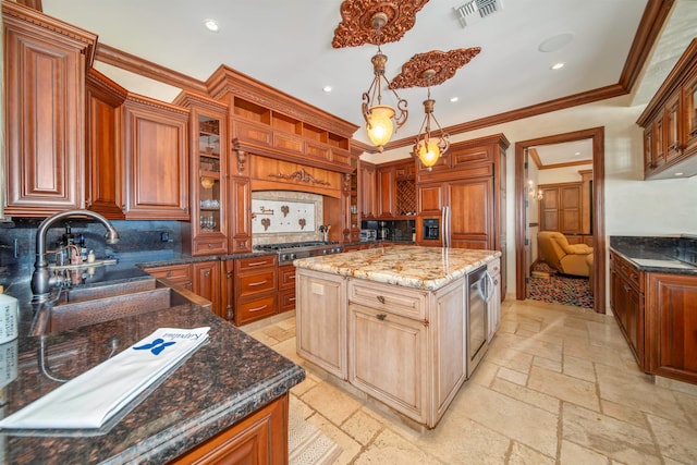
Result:
<svg viewBox="0 0 697 465">
<path fill-rule="evenodd" d="M 152 279 L 140 270 L 123 273 L 125 281 Z M 2 416 L 61 386 L 40 368 L 41 338 L 28 335 L 33 309 L 25 285 L 15 283 L 11 292 L 21 301 L 21 330 L 7 343 L 17 354 L 17 376 L 0 390 Z M 103 436 L 0 433 L 4 463 L 166 463 L 305 379 L 303 368 L 193 303 L 47 334 L 45 354 L 52 376 L 72 379 L 107 359 L 114 343 L 121 352 L 164 327 L 210 327 L 210 340 Z"/>
</svg>

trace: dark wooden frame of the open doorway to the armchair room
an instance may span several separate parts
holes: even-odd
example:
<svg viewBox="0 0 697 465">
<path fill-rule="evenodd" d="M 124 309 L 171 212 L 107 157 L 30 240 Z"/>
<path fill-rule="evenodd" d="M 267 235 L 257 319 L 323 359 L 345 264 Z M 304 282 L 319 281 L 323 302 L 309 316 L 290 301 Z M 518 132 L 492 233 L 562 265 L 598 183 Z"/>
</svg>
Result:
<svg viewBox="0 0 697 465">
<path fill-rule="evenodd" d="M 563 144 L 590 139 L 592 144 L 592 237 L 594 237 L 594 273 L 592 294 L 594 310 L 606 313 L 606 238 L 604 238 L 604 129 L 594 127 L 572 133 L 557 134 L 515 144 L 515 257 L 516 257 L 516 299 L 527 297 L 527 279 L 529 268 L 526 267 L 530 243 L 535 237 L 529 234 L 528 218 L 528 179 L 526 175 L 527 150 L 536 146 Z"/>
</svg>

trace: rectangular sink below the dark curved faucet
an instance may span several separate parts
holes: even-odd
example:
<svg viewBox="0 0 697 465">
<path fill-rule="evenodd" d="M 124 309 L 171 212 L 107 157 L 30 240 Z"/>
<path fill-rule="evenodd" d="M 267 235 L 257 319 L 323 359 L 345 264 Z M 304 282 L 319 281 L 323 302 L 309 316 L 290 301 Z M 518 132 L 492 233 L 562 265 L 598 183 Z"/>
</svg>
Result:
<svg viewBox="0 0 697 465">
<path fill-rule="evenodd" d="M 75 287 L 63 291 L 53 305 L 40 305 L 30 334 L 66 331 L 191 303 L 209 309 L 211 306 L 191 291 L 166 286 L 156 279 Z"/>
</svg>

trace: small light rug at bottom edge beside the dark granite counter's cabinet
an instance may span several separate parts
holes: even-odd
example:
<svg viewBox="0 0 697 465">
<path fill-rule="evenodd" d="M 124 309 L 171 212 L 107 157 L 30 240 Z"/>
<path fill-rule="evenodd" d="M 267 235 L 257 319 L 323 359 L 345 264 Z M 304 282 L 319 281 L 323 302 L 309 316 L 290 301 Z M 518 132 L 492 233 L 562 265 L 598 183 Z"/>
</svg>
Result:
<svg viewBox="0 0 697 465">
<path fill-rule="evenodd" d="M 290 465 L 329 465 L 342 452 L 335 442 L 305 421 L 293 407 L 289 411 L 288 450 Z"/>
</svg>

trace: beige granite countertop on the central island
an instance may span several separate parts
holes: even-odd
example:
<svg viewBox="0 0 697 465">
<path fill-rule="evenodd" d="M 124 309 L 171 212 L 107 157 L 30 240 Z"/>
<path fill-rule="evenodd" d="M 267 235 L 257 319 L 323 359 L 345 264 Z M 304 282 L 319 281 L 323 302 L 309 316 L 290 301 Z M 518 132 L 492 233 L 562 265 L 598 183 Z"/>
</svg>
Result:
<svg viewBox="0 0 697 465">
<path fill-rule="evenodd" d="M 498 250 L 392 245 L 294 260 L 297 268 L 436 291 L 500 257 Z"/>
</svg>

